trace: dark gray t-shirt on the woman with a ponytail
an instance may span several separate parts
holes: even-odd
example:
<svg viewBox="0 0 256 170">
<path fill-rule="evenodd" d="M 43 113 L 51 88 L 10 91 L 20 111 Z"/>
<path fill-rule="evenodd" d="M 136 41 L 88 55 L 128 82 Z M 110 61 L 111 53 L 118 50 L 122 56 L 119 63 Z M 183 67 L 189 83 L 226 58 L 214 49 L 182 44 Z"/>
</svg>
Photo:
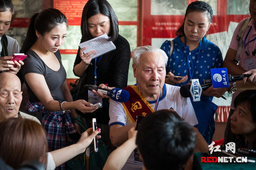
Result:
<svg viewBox="0 0 256 170">
<path fill-rule="evenodd" d="M 25 75 L 28 73 L 42 74 L 51 92 L 52 98 L 57 101 L 64 101 L 64 94 L 61 85 L 66 80 L 67 74 L 61 63 L 60 51 L 55 52 L 55 56 L 60 62 L 61 68 L 59 71 L 53 71 L 44 63 L 44 61 L 35 53 L 35 51 L 28 50 L 27 57 L 23 60 L 24 65 L 21 67 L 21 74 L 28 87 L 29 100 L 31 102 L 40 102 L 40 100 L 32 92 L 31 88 L 26 82 Z"/>
</svg>

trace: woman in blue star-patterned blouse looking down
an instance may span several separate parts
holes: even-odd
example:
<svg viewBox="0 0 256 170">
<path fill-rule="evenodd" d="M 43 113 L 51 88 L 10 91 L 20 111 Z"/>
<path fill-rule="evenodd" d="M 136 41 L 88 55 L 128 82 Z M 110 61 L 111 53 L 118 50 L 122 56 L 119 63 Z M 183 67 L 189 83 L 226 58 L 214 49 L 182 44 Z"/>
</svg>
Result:
<svg viewBox="0 0 256 170">
<path fill-rule="evenodd" d="M 211 68 L 221 68 L 223 59 L 218 46 L 205 38 L 212 24 L 212 8 L 202 1 L 189 4 L 186 9 L 184 22 L 177 30 L 177 37 L 173 41 L 166 40 L 161 49 L 169 56 L 166 72 L 169 75 L 181 76 L 177 79 L 166 78 L 166 83 L 181 86 L 189 83 L 191 79 L 199 79 L 201 85 L 205 79 L 211 79 Z M 212 102 L 213 96 L 220 97 L 226 88 L 208 88 L 202 92 L 199 102 L 191 102 L 198 119 L 198 130 L 210 144 L 215 130 L 213 115 L 218 108 Z"/>
</svg>

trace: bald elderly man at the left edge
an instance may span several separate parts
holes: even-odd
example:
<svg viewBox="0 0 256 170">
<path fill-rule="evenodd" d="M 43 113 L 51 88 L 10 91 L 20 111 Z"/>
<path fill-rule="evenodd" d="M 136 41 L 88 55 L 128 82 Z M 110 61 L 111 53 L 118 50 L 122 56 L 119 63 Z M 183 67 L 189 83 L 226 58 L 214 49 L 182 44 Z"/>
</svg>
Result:
<svg viewBox="0 0 256 170">
<path fill-rule="evenodd" d="M 0 122 L 11 117 L 22 117 L 40 121 L 29 114 L 19 111 L 22 100 L 20 79 L 13 73 L 0 73 Z"/>
</svg>

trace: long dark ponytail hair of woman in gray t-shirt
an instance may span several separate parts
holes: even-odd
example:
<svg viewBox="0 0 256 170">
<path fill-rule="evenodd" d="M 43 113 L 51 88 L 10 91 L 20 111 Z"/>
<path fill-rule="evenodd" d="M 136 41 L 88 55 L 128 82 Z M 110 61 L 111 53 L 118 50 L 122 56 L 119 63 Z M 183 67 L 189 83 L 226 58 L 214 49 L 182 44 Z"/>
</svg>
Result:
<svg viewBox="0 0 256 170">
<path fill-rule="evenodd" d="M 67 18 L 61 11 L 55 8 L 48 8 L 41 11 L 39 14 L 34 14 L 30 19 L 26 39 L 23 42 L 20 52 L 26 54 L 29 48 L 35 43 L 37 40 L 35 30 L 38 31 L 39 34 L 44 35 L 55 26 L 62 23 L 67 24 Z"/>
</svg>

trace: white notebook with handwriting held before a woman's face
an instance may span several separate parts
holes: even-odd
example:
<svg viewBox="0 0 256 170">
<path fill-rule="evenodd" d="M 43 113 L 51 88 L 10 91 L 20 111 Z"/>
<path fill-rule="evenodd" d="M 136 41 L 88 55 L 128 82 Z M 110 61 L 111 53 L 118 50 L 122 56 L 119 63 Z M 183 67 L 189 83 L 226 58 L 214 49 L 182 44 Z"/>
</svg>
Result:
<svg viewBox="0 0 256 170">
<path fill-rule="evenodd" d="M 97 54 L 94 55 L 92 57 L 92 59 L 116 49 L 116 46 L 109 39 L 109 37 L 106 33 L 102 34 L 99 37 L 93 38 L 91 40 L 88 40 L 88 41 L 85 41 L 85 42 L 82 42 L 81 44 L 79 44 L 80 48 L 83 48 L 85 46 L 86 46 L 86 49 L 83 51 L 84 54 L 89 51 L 92 51 L 92 50 L 97 51 Z"/>
</svg>

